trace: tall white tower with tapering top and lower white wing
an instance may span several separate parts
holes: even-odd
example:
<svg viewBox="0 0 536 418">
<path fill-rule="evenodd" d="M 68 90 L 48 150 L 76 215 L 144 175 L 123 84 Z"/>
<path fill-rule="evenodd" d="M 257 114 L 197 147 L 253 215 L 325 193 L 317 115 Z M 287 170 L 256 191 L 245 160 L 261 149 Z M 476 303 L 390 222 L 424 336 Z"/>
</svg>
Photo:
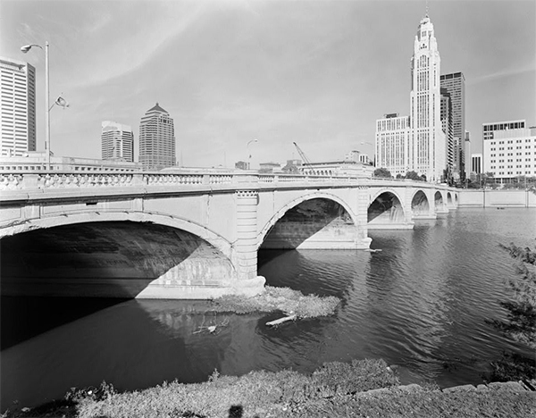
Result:
<svg viewBox="0 0 536 418">
<path fill-rule="evenodd" d="M 428 181 L 444 181 L 452 144 L 441 124 L 440 53 L 428 15 L 415 36 L 411 76 L 410 116 L 376 121 L 376 166 L 393 175 L 416 171 Z"/>
</svg>

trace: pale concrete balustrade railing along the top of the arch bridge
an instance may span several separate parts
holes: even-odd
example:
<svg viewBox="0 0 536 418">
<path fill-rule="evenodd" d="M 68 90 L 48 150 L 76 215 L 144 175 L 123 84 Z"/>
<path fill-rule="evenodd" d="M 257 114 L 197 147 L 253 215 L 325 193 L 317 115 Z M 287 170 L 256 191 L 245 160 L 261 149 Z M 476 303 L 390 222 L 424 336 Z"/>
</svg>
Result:
<svg viewBox="0 0 536 418">
<path fill-rule="evenodd" d="M 400 187 L 446 188 L 446 185 L 423 181 L 366 179 L 350 176 L 319 176 L 300 174 L 264 174 L 244 172 L 11 172 L 0 173 L 0 201 L 33 197 L 138 195 L 168 192 L 214 192 L 230 190 L 269 190 L 274 188 L 338 188 L 338 187 Z M 90 189 L 90 190 L 88 190 Z M 86 190 L 86 191 L 85 191 Z M 98 191 L 97 191 L 98 190 Z"/>
</svg>

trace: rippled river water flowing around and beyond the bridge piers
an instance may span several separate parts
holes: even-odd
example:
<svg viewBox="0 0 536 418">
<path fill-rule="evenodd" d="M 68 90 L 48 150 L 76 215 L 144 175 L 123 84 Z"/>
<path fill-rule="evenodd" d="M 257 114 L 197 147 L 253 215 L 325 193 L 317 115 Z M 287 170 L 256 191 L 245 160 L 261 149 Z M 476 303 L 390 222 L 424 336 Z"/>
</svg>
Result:
<svg viewBox="0 0 536 418">
<path fill-rule="evenodd" d="M 280 314 L 216 315 L 201 301 L 3 297 L 1 410 L 102 380 L 132 390 L 363 358 L 398 364 L 403 383 L 448 387 L 482 382 L 503 350 L 534 356 L 484 320 L 506 317 L 498 301 L 515 277 L 498 244 L 535 247 L 536 210 L 458 209 L 369 236 L 381 251 L 259 253 L 267 284 L 341 299 L 331 317 L 277 329 L 264 324 Z"/>
</svg>

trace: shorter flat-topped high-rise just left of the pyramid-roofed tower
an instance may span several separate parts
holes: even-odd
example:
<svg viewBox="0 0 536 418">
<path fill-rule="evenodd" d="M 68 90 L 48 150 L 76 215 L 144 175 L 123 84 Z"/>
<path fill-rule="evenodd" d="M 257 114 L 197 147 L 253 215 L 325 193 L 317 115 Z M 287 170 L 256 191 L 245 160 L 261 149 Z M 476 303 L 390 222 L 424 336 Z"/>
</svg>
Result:
<svg viewBox="0 0 536 418">
<path fill-rule="evenodd" d="M 103 121 L 101 145 L 103 160 L 134 161 L 134 133 L 129 125 Z"/>
</svg>

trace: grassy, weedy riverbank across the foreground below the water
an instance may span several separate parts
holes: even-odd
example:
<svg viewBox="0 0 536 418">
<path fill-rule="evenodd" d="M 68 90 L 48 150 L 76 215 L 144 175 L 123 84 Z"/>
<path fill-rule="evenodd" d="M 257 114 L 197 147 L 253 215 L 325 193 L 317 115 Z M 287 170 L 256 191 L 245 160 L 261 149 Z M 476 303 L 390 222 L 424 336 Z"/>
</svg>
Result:
<svg viewBox="0 0 536 418">
<path fill-rule="evenodd" d="M 534 381 L 532 380 L 532 385 Z M 117 393 L 103 384 L 73 390 L 60 401 L 21 408 L 3 418 L 89 417 L 528 417 L 536 414 L 531 384 L 490 383 L 439 389 L 400 386 L 383 360 L 323 364 L 311 374 L 250 372 L 241 377 L 217 372 L 204 383 L 166 383 Z"/>
</svg>

